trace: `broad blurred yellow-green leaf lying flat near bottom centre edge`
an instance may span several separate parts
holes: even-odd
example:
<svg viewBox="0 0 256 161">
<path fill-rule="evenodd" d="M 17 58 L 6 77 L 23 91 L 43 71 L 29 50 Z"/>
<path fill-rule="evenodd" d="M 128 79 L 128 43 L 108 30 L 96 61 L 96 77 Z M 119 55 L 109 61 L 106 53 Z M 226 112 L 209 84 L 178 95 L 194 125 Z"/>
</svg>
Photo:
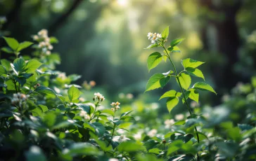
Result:
<svg viewBox="0 0 256 161">
<path fill-rule="evenodd" d="M 145 147 L 137 144 L 134 141 L 125 141 L 119 144 L 118 151 L 120 152 L 136 152 L 136 151 L 145 151 Z"/>
</svg>

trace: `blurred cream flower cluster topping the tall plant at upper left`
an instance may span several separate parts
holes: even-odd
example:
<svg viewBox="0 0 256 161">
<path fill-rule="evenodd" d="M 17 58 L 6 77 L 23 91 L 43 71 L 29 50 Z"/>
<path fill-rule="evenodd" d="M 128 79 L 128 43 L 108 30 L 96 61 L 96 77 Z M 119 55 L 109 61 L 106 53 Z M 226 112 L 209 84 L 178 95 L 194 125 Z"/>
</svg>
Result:
<svg viewBox="0 0 256 161">
<path fill-rule="evenodd" d="M 46 29 L 41 29 L 37 35 L 33 36 L 34 41 L 38 41 L 38 48 L 42 50 L 45 55 L 51 55 L 51 50 L 53 50 L 53 45 L 50 43 L 50 38 L 48 36 L 48 31 Z"/>
</svg>

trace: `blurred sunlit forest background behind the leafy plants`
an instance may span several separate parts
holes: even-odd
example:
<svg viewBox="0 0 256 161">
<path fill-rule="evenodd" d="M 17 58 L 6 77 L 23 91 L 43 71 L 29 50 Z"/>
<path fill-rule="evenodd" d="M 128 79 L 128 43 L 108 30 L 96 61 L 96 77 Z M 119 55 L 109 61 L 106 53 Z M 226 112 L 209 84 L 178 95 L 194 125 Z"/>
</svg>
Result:
<svg viewBox="0 0 256 161">
<path fill-rule="evenodd" d="M 146 59 L 153 50 L 143 48 L 150 43 L 149 31 L 167 26 L 169 41 L 186 38 L 181 55 L 172 55 L 176 64 L 186 57 L 207 62 L 201 69 L 218 95 L 202 94 L 203 104 L 219 104 L 238 82 L 255 75 L 255 0 L 0 0 L 0 15 L 7 19 L 2 30 L 18 41 L 31 41 L 32 34 L 48 29 L 59 40 L 57 69 L 82 75 L 78 84 L 95 80 L 94 90 L 112 99 L 132 93 L 144 102 L 158 100 L 162 90 L 141 94 L 148 78 L 169 71 L 170 64 L 148 73 Z M 165 89 L 175 88 L 172 83 Z"/>
</svg>

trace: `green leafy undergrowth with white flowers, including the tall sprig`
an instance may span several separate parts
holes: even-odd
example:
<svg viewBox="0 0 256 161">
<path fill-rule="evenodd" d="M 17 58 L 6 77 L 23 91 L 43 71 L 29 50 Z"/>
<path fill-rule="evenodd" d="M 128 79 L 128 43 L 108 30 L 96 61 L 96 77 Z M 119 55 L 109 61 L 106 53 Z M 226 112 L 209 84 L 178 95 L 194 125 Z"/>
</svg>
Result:
<svg viewBox="0 0 256 161">
<path fill-rule="evenodd" d="M 222 106 L 200 108 L 199 91 L 216 94 L 207 83 L 191 85 L 191 76 L 205 79 L 198 69 L 204 62 L 182 59 L 184 70 L 177 73 L 171 56 L 181 52 L 177 45 L 184 39 L 165 48 L 168 34 L 169 27 L 162 34 L 149 34 L 148 48 L 164 51 L 148 57 L 148 70 L 169 59 L 174 71 L 155 73 L 146 91 L 175 79 L 180 91 L 169 90 L 160 99 L 167 98 L 169 112 L 181 100 L 189 113 L 174 119 L 169 113 L 159 117 L 158 104 L 141 99 L 121 108 L 119 102 L 103 106 L 108 100 L 99 92 L 92 101 L 83 100 L 95 83 L 76 85 L 81 76 L 56 71 L 60 59 L 51 50 L 58 41 L 46 30 L 24 47 L 34 48 L 33 57 L 23 50 L 17 54 L 13 46 L 21 43 L 5 37 L 4 48 L 13 50 L 10 54 L 16 58 L 1 59 L 0 65 L 1 160 L 255 160 L 255 78 L 252 84 L 238 85 Z M 196 102 L 194 107 L 190 100 Z"/>
</svg>

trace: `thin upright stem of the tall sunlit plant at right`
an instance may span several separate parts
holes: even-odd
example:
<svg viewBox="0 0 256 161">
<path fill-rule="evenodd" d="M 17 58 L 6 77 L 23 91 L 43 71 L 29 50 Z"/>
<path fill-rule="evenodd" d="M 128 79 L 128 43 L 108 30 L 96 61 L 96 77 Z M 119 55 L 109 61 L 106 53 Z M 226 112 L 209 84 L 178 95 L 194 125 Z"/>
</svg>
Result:
<svg viewBox="0 0 256 161">
<path fill-rule="evenodd" d="M 188 111 L 189 111 L 189 113 L 190 113 L 190 116 L 191 116 L 191 115 L 192 115 L 191 107 L 188 105 L 188 102 L 186 101 L 186 97 L 185 97 L 184 90 L 183 90 L 183 88 L 181 87 L 181 82 L 179 81 L 179 74 L 177 73 L 176 67 L 175 67 L 174 63 L 172 62 L 172 59 L 171 59 L 171 57 L 169 56 L 169 54 L 168 54 L 168 52 L 167 52 L 167 50 L 166 50 L 166 48 L 165 48 L 165 45 L 162 45 L 162 48 L 165 49 L 165 52 L 167 53 L 167 57 L 168 57 L 169 61 L 172 63 L 172 66 L 173 66 L 173 68 L 174 68 L 175 76 L 176 76 L 176 78 L 177 78 L 177 80 L 178 80 L 179 87 L 181 88 L 181 92 L 182 92 L 182 95 L 183 95 L 183 97 L 184 97 L 184 101 L 185 101 L 185 103 L 186 103 L 186 107 L 187 107 L 187 109 L 188 109 Z M 198 143 L 199 143 L 200 140 L 199 140 L 198 130 L 197 130 L 196 127 L 195 127 L 195 131 L 196 131 L 196 137 L 197 137 L 197 140 L 198 140 Z M 197 153 L 197 155 L 198 155 L 198 153 Z M 199 155 L 198 155 L 198 160 L 199 160 Z"/>
</svg>

